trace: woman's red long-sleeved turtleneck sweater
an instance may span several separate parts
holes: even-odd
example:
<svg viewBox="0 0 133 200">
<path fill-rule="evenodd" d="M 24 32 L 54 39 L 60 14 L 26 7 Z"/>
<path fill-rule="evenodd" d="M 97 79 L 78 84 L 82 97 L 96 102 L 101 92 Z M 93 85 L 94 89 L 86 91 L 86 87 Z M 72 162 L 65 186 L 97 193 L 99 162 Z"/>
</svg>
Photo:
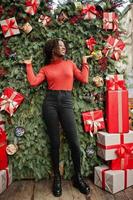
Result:
<svg viewBox="0 0 133 200">
<path fill-rule="evenodd" d="M 82 70 L 71 60 L 57 60 L 42 67 L 37 75 L 34 74 L 32 64 L 26 64 L 27 79 L 31 86 L 37 86 L 47 81 L 49 90 L 68 90 L 73 88 L 74 78 L 82 83 L 88 82 L 88 65 L 83 64 Z"/>
</svg>

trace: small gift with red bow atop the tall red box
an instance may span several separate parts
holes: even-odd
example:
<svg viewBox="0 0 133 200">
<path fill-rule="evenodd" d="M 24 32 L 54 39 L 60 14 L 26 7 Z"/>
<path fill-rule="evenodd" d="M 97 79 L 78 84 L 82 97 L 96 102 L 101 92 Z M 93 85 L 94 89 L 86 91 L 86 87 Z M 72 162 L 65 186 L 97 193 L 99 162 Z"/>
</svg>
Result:
<svg viewBox="0 0 133 200">
<path fill-rule="evenodd" d="M 107 90 L 126 90 L 125 80 L 122 74 L 109 74 L 106 77 Z"/>
</svg>

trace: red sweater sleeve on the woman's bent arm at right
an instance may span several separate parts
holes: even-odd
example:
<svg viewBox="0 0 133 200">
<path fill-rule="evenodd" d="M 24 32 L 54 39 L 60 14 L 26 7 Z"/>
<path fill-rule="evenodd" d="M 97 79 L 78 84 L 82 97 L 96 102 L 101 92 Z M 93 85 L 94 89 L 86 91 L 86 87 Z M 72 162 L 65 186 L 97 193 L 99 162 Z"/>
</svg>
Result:
<svg viewBox="0 0 133 200">
<path fill-rule="evenodd" d="M 74 77 L 81 81 L 82 83 L 88 83 L 89 78 L 89 68 L 87 63 L 83 63 L 82 69 L 78 69 L 77 66 L 73 63 Z"/>
</svg>

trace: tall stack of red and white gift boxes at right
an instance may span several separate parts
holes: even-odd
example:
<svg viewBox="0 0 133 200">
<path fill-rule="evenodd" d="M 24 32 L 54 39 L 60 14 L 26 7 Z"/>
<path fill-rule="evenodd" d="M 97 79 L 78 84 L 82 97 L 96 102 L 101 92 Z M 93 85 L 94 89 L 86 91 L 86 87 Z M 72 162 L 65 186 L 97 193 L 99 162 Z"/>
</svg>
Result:
<svg viewBox="0 0 133 200">
<path fill-rule="evenodd" d="M 97 134 L 97 154 L 105 165 L 95 167 L 94 182 L 111 193 L 133 185 L 133 131 L 129 131 L 128 91 L 122 75 L 106 79 L 106 130 Z"/>
</svg>

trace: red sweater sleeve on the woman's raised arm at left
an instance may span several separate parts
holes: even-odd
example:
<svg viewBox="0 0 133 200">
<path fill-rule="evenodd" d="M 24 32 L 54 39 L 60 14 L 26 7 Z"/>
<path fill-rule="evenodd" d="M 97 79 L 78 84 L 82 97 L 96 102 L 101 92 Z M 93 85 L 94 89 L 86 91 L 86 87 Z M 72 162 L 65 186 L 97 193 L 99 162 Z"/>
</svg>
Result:
<svg viewBox="0 0 133 200">
<path fill-rule="evenodd" d="M 26 64 L 27 79 L 31 86 L 37 86 L 45 80 L 44 69 L 41 68 L 37 75 L 34 74 L 32 64 Z"/>
</svg>

